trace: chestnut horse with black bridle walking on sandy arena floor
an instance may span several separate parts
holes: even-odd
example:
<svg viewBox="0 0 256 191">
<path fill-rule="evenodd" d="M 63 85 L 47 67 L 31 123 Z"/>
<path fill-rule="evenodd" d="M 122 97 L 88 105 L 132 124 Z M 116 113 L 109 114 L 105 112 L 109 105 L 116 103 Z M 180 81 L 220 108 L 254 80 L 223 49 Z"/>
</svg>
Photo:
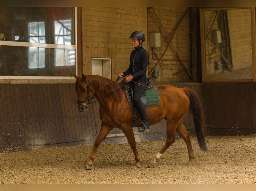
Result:
<svg viewBox="0 0 256 191">
<path fill-rule="evenodd" d="M 127 137 L 127 141 L 132 148 L 135 156 L 135 168 L 140 168 L 140 155 L 136 148 L 136 141 L 132 129 L 133 109 L 129 106 L 126 97 L 124 82 L 115 82 L 108 78 L 98 75 L 74 75 L 76 78 L 76 93 L 78 95 L 78 111 L 86 112 L 89 105 L 99 101 L 100 119 L 102 121 L 100 132 L 95 140 L 89 160 L 86 162 L 85 170 L 93 168 L 97 150 L 113 128 L 119 128 Z M 194 125 L 199 147 L 202 151 L 207 151 L 204 138 L 204 128 L 202 128 L 202 111 L 198 95 L 189 88 L 177 88 L 170 85 L 157 86 L 160 102 L 156 106 L 146 109 L 149 126 L 166 119 L 166 141 L 164 146 L 155 154 L 153 159 L 148 163 L 148 167 L 155 167 L 157 160 L 175 141 L 175 131 L 183 138 L 188 150 L 188 165 L 193 163 L 195 155 L 192 149 L 189 132 L 183 124 L 183 118 L 189 109 L 189 113 L 194 117 Z M 96 101 L 92 101 L 96 97 Z M 135 126 L 139 125 L 139 118 Z"/>
</svg>

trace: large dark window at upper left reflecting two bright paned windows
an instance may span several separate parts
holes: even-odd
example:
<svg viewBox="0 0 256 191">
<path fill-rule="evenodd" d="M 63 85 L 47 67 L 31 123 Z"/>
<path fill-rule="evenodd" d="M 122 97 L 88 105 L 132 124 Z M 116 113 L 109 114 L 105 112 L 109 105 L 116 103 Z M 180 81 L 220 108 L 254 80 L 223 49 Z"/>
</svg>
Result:
<svg viewBox="0 0 256 191">
<path fill-rule="evenodd" d="M 73 76 L 74 7 L 0 7 L 0 15 L 0 76 Z"/>
</svg>

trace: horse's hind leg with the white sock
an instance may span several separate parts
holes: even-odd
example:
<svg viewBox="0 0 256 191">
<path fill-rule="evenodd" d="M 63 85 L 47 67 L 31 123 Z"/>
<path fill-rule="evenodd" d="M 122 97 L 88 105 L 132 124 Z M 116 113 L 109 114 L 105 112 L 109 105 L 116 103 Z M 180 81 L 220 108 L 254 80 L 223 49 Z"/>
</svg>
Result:
<svg viewBox="0 0 256 191">
<path fill-rule="evenodd" d="M 148 167 L 155 167 L 156 166 L 156 161 L 160 159 L 161 155 L 171 146 L 172 143 L 175 141 L 175 129 L 177 127 L 177 124 L 173 123 L 167 123 L 167 128 L 166 128 L 166 141 L 164 146 L 161 148 L 161 150 L 154 156 L 154 158 L 149 162 Z"/>
</svg>

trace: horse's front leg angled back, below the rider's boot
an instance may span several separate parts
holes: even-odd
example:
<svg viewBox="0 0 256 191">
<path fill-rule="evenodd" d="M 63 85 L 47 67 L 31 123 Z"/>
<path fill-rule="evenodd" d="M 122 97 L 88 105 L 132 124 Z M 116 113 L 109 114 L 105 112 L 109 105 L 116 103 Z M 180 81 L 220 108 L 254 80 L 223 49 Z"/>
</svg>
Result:
<svg viewBox="0 0 256 191">
<path fill-rule="evenodd" d="M 132 151 L 134 153 L 134 156 L 135 156 L 135 168 L 136 169 L 139 169 L 140 168 L 140 155 L 137 151 L 137 148 L 136 148 L 136 141 L 135 141 L 135 137 L 134 137 L 134 133 L 133 133 L 133 130 L 131 128 L 131 126 L 129 125 L 125 125 L 122 127 L 122 130 L 127 138 L 127 141 L 129 142 L 131 148 L 132 148 Z"/>
</svg>

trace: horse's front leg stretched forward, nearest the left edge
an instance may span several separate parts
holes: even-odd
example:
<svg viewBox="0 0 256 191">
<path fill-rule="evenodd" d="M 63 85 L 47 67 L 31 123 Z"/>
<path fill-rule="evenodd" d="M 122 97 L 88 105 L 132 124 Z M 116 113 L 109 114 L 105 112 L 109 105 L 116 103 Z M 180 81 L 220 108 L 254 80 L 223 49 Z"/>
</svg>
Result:
<svg viewBox="0 0 256 191">
<path fill-rule="evenodd" d="M 86 162 L 86 165 L 85 165 L 85 170 L 90 170 L 93 168 L 93 161 L 95 159 L 97 150 L 98 150 L 101 142 L 103 141 L 103 139 L 108 135 L 109 131 L 111 131 L 113 128 L 114 127 L 107 125 L 103 122 L 101 123 L 100 133 L 98 134 L 98 136 L 94 142 L 93 150 L 91 152 L 89 160 Z"/>
</svg>

